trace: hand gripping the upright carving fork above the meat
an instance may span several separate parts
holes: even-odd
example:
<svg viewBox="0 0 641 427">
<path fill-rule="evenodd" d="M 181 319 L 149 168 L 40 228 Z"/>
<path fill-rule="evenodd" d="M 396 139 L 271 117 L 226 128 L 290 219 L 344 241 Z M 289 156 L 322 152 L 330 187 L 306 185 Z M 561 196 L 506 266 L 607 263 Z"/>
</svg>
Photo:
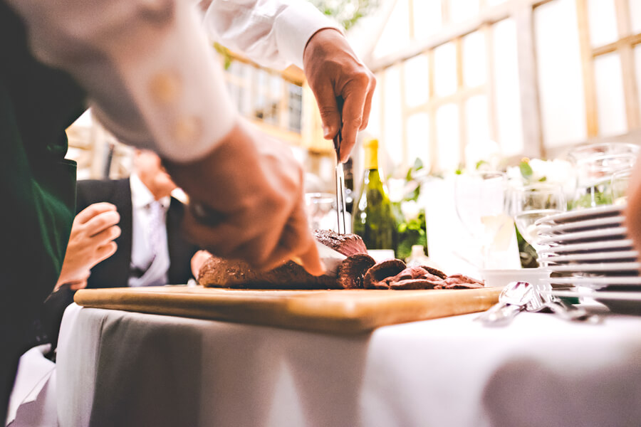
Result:
<svg viewBox="0 0 641 427">
<path fill-rule="evenodd" d="M 350 48 L 340 32 L 325 28 L 314 34 L 303 53 L 303 68 L 323 120 L 323 137 L 332 139 L 340 130 L 339 95 L 343 105 L 343 142 L 340 162 L 345 162 L 359 130 L 368 126 L 376 78 Z"/>
</svg>

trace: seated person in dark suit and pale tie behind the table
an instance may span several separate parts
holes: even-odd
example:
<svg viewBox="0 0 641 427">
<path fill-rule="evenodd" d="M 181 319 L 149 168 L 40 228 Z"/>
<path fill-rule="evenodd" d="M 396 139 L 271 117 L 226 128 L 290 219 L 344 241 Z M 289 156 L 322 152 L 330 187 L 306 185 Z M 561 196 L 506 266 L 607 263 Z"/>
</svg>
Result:
<svg viewBox="0 0 641 427">
<path fill-rule="evenodd" d="M 56 347 L 76 290 L 185 284 L 209 256 L 194 258 L 199 248 L 180 226 L 185 206 L 172 197 L 179 189 L 160 157 L 138 149 L 133 167 L 129 178 L 78 181 L 78 214 L 58 283 L 36 324 L 35 344 Z"/>
</svg>

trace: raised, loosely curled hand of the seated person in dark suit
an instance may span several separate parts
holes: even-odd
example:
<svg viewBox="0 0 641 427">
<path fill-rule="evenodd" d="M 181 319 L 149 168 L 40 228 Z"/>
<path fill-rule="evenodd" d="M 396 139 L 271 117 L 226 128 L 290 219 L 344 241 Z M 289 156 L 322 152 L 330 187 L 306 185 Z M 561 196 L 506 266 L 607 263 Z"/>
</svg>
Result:
<svg viewBox="0 0 641 427">
<path fill-rule="evenodd" d="M 75 216 L 54 290 L 66 283 L 72 290 L 87 285 L 91 268 L 109 258 L 118 248 L 113 240 L 120 236 L 120 227 L 116 225 L 119 221 L 120 214 L 110 203 L 92 204 Z"/>
</svg>

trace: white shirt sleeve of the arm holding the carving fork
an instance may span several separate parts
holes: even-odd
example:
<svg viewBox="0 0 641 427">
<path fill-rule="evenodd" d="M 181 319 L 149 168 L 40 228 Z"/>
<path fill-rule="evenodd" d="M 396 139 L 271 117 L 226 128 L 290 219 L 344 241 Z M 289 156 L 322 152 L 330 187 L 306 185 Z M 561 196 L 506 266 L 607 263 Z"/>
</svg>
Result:
<svg viewBox="0 0 641 427">
<path fill-rule="evenodd" d="M 270 68 L 303 68 L 303 51 L 314 33 L 341 31 L 305 0 L 203 0 L 201 6 L 213 40 Z"/>
</svg>

